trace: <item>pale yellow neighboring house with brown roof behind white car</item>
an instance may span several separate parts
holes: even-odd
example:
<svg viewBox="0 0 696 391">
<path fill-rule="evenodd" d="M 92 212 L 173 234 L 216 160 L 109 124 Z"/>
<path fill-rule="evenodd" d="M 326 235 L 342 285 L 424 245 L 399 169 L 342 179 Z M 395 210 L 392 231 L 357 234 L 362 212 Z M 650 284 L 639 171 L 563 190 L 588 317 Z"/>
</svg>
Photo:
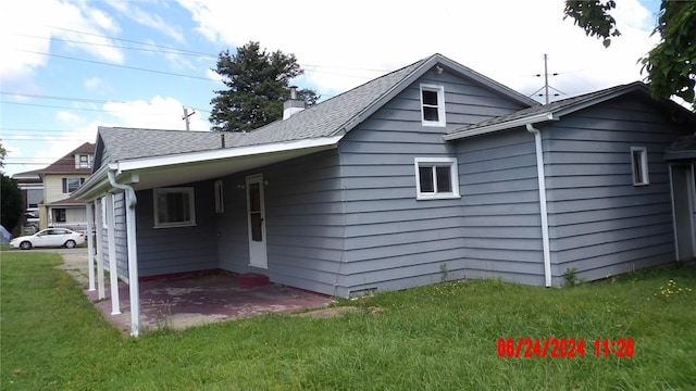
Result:
<svg viewBox="0 0 696 391">
<path fill-rule="evenodd" d="M 36 173 L 44 184 L 39 207 L 39 229 L 64 227 L 84 230 L 87 227 L 85 201 L 70 197 L 89 178 L 95 144 L 85 142 L 53 164 Z"/>
</svg>

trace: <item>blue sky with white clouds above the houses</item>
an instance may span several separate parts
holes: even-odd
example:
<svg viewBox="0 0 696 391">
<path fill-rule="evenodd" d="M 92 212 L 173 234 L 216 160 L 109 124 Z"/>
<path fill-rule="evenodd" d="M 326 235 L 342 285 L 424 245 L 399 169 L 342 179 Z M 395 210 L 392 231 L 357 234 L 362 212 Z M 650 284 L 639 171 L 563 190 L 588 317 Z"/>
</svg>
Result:
<svg viewBox="0 0 696 391">
<path fill-rule="evenodd" d="M 562 0 L 26 0 L 0 13 L 5 175 L 42 168 L 98 126 L 209 131 L 220 52 L 249 41 L 295 54 L 294 84 L 334 97 L 440 53 L 543 102 L 644 80 L 659 0 L 617 0 L 609 48 Z M 542 77 L 535 75 L 540 74 Z"/>
</svg>

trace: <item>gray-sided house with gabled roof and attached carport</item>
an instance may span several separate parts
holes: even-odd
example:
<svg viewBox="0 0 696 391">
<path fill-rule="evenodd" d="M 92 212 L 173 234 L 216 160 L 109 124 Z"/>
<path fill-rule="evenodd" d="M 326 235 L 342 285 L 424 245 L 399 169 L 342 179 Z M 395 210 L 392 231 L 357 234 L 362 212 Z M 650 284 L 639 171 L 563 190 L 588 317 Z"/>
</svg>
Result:
<svg viewBox="0 0 696 391">
<path fill-rule="evenodd" d="M 348 297 L 675 260 L 666 150 L 696 117 L 641 83 L 539 105 L 435 54 L 297 106 L 247 134 L 99 129 L 74 197 L 132 295 L 208 269 Z"/>
</svg>

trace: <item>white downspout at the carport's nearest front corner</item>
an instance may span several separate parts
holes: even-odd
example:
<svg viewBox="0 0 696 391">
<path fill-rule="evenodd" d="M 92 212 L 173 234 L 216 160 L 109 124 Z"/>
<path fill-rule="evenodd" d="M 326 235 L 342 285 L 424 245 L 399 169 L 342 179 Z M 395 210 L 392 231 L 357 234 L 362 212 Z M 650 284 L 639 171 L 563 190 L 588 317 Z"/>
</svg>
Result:
<svg viewBox="0 0 696 391">
<path fill-rule="evenodd" d="M 138 249 L 135 232 L 135 206 L 138 198 L 135 190 L 128 185 L 116 181 L 113 169 L 108 172 L 109 182 L 116 189 L 125 191 L 126 203 L 126 236 L 128 241 L 128 288 L 130 297 L 130 336 L 138 337 L 140 333 L 140 291 L 138 287 Z"/>
</svg>

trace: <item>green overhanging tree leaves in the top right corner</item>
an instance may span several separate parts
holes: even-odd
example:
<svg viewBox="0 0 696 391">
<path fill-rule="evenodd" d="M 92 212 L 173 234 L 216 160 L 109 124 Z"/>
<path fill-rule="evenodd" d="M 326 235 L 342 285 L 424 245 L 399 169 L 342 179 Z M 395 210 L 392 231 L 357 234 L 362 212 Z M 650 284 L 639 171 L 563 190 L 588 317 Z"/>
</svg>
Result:
<svg viewBox="0 0 696 391">
<path fill-rule="evenodd" d="M 621 35 L 610 14 L 613 8 L 613 0 L 567 0 L 564 17 L 572 17 L 588 36 L 609 47 L 610 37 Z M 652 34 L 660 35 L 660 42 L 639 59 L 650 93 L 654 98 L 680 97 L 696 110 L 696 1 L 662 0 Z"/>
</svg>

